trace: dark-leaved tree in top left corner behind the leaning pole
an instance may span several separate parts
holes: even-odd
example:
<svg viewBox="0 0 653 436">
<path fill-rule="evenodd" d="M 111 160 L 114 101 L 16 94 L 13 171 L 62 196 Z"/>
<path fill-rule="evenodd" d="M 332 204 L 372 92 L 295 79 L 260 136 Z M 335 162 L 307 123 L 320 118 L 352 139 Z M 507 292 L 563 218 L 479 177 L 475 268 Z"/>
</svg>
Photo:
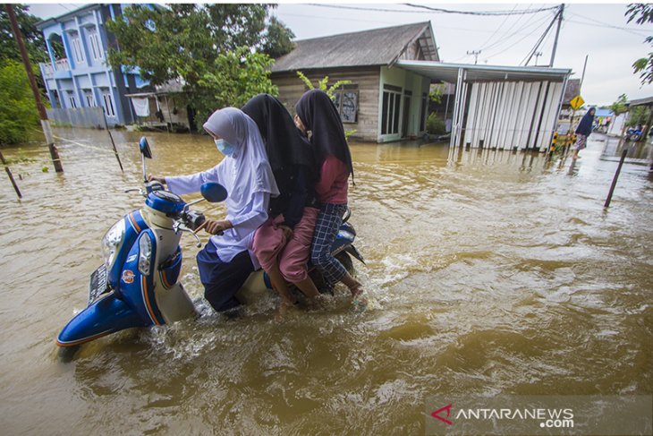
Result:
<svg viewBox="0 0 653 436">
<path fill-rule="evenodd" d="M 28 13 L 29 9 L 25 4 L 13 4 L 13 12 L 16 14 L 16 21 L 21 28 L 22 39 L 31 62 L 33 64 L 47 62 L 46 40 L 36 27 L 40 19 Z M 9 17 L 3 7 L 0 9 L 0 62 L 4 64 L 6 60 L 22 62 L 21 52 L 18 50 L 16 39 L 13 38 Z"/>
</svg>

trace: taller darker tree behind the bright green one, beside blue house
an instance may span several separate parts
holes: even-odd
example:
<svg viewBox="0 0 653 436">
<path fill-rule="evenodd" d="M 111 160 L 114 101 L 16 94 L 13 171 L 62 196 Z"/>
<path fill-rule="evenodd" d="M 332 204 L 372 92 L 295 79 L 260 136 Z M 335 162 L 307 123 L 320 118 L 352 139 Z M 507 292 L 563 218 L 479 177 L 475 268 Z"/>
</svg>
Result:
<svg viewBox="0 0 653 436">
<path fill-rule="evenodd" d="M 238 47 L 262 51 L 267 41 L 267 11 L 271 7 L 170 4 L 151 8 L 132 4 L 124 9 L 122 17 L 107 22 L 107 29 L 117 41 L 117 47 L 109 50 L 109 63 L 114 67 L 138 67 L 141 76 L 154 85 L 180 76 L 194 83 L 220 54 Z M 267 49 L 283 51 L 273 46 Z"/>
</svg>

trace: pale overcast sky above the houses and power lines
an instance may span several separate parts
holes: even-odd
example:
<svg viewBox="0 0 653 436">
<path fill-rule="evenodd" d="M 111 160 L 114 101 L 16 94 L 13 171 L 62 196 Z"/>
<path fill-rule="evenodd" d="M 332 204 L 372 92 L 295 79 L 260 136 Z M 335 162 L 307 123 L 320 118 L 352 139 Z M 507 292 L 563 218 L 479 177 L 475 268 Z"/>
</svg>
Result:
<svg viewBox="0 0 653 436">
<path fill-rule="evenodd" d="M 462 12 L 520 12 L 548 8 L 543 3 L 420 3 Z M 30 12 L 41 18 L 67 13 L 81 4 L 30 4 Z M 360 8 L 360 9 L 352 9 Z M 388 11 L 389 10 L 389 11 Z M 644 38 L 653 26 L 628 24 L 626 3 L 565 3 L 564 21 L 555 54 L 555 67 L 571 68 L 581 78 L 588 56 L 581 95 L 589 104 L 609 105 L 620 94 L 628 98 L 653 96 L 653 85 L 640 84 L 632 73 L 632 62 L 651 50 Z M 299 4 L 281 3 L 274 14 L 298 39 L 369 30 L 409 22 L 431 21 L 440 58 L 444 62 L 474 63 L 468 51 L 480 51 L 479 64 L 519 65 L 542 37 L 555 11 L 517 15 L 472 15 L 437 13 L 406 4 Z M 538 52 L 539 65 L 548 64 L 554 44 L 555 25 Z M 530 65 L 535 64 L 536 58 Z"/>
</svg>

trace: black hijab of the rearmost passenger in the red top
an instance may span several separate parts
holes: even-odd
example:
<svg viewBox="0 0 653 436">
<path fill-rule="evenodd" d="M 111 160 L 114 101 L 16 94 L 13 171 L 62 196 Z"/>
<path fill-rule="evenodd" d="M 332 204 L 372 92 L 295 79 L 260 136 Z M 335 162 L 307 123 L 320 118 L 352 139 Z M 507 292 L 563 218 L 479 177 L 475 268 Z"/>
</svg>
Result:
<svg viewBox="0 0 653 436">
<path fill-rule="evenodd" d="M 310 142 L 316 148 L 319 167 L 329 156 L 340 159 L 353 177 L 352 154 L 344 138 L 343 122 L 334 102 L 323 90 L 309 90 L 295 105 L 297 115 L 312 136 Z"/>
</svg>

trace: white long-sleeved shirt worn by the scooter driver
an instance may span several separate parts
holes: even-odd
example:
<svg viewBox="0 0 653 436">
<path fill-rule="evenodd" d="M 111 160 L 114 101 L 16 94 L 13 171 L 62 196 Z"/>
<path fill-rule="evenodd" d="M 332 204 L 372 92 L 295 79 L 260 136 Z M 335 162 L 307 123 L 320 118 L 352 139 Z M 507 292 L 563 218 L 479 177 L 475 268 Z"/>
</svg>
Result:
<svg viewBox="0 0 653 436">
<path fill-rule="evenodd" d="M 220 164 L 207 171 L 193 175 L 166 176 L 165 184 L 168 189 L 176 194 L 199 192 L 199 187 L 207 182 L 222 184 L 227 194 L 232 191 L 230 180 L 220 180 Z M 224 169 L 224 168 L 222 168 Z M 223 177 L 224 178 L 224 177 Z M 254 252 L 252 252 L 252 240 L 254 232 L 267 220 L 267 207 L 270 201 L 270 194 L 267 192 L 254 192 L 251 201 L 237 215 L 227 207 L 226 219 L 231 221 L 233 228 L 225 230 L 224 235 L 213 235 L 209 239 L 211 244 L 216 246 L 217 255 L 221 261 L 230 262 L 236 254 L 247 250 L 254 269 L 260 269 L 260 263 Z M 227 203 L 228 206 L 228 203 Z"/>
</svg>

